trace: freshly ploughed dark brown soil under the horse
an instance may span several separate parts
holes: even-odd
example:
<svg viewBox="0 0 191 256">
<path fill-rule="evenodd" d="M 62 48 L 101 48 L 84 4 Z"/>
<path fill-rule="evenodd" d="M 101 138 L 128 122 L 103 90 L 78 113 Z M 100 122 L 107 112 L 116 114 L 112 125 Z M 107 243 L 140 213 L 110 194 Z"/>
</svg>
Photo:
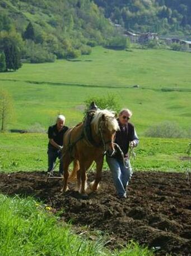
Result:
<svg viewBox="0 0 191 256">
<path fill-rule="evenodd" d="M 88 180 L 92 180 L 90 173 Z M 60 194 L 61 180 L 46 182 L 45 172 L 0 173 L 0 192 L 34 195 L 72 220 L 79 231 L 104 231 L 111 249 L 129 240 L 155 248 L 155 255 L 191 255 L 191 191 L 188 173 L 135 172 L 128 186 L 128 198 L 118 199 L 110 172 L 103 172 L 101 186 L 88 199 L 74 191 Z M 73 189 L 73 185 L 71 185 Z M 64 211 L 63 211 L 64 209 Z"/>
</svg>

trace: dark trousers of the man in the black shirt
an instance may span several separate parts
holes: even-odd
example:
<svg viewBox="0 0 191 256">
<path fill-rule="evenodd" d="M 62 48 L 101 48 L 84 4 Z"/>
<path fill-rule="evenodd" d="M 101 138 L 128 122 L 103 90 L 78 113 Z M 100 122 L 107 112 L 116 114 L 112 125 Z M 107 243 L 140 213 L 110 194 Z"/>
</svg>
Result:
<svg viewBox="0 0 191 256">
<path fill-rule="evenodd" d="M 60 159 L 60 163 L 59 163 L 59 173 L 63 173 L 63 158 L 62 158 L 62 152 L 60 152 L 60 150 L 55 150 L 55 149 L 48 149 L 48 172 L 50 172 L 51 170 L 53 170 L 55 161 L 58 159 Z"/>
</svg>

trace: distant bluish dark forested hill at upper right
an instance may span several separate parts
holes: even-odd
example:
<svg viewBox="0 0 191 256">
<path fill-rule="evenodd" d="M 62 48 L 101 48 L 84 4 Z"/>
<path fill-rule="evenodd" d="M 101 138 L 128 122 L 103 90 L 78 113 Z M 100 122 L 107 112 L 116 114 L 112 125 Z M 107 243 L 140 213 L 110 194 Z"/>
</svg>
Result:
<svg viewBox="0 0 191 256">
<path fill-rule="evenodd" d="M 94 0 L 105 16 L 126 29 L 190 36 L 189 0 Z"/>
</svg>

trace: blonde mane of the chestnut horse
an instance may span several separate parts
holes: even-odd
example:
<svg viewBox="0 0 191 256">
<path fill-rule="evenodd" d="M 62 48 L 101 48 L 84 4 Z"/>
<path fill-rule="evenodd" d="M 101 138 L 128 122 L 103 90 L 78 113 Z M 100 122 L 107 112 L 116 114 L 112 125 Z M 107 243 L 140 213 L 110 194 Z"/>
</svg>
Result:
<svg viewBox="0 0 191 256">
<path fill-rule="evenodd" d="M 96 132 L 98 132 L 98 130 L 99 130 L 100 120 L 103 115 L 105 116 L 105 124 L 106 124 L 106 126 L 108 126 L 108 129 L 110 131 L 119 130 L 118 121 L 115 118 L 115 112 L 109 111 L 108 109 L 98 109 L 98 110 L 96 110 L 94 117 L 92 119 L 92 122 L 91 122 L 94 125 L 94 129 Z"/>
</svg>

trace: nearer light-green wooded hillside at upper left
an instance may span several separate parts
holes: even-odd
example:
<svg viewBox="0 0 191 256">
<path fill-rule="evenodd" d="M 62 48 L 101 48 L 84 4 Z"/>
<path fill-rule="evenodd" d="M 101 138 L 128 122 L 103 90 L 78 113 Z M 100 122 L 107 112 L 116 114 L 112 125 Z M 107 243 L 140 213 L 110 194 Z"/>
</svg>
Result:
<svg viewBox="0 0 191 256">
<path fill-rule="evenodd" d="M 91 46 L 114 34 L 114 26 L 91 0 L 4 0 L 0 31 L 0 39 L 17 33 L 12 38 L 20 38 L 22 58 L 38 63 L 90 54 Z"/>
</svg>

